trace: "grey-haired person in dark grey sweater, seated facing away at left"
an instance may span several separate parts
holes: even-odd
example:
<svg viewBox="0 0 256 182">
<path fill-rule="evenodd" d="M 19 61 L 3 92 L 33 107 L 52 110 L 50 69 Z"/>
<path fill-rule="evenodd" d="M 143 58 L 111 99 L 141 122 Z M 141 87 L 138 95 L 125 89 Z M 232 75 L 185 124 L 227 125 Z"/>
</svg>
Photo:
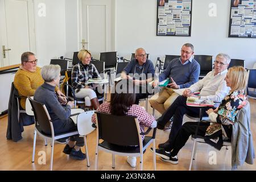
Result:
<svg viewBox="0 0 256 182">
<path fill-rule="evenodd" d="M 69 101 L 65 106 L 62 106 L 54 92 L 55 86 L 59 85 L 60 81 L 60 66 L 46 65 L 42 68 L 41 75 L 44 84 L 36 89 L 34 100 L 46 105 L 49 116 L 52 119 L 54 133 L 60 134 L 77 130 L 77 126 L 69 118 L 71 107 L 74 106 L 74 103 Z M 51 131 L 44 131 L 44 133 L 51 134 Z M 66 144 L 63 152 L 73 159 L 83 160 L 85 159 L 85 154 L 80 149 L 82 146 L 84 146 L 84 139 L 79 137 L 79 135 L 74 135 L 69 138 L 69 142 Z"/>
</svg>

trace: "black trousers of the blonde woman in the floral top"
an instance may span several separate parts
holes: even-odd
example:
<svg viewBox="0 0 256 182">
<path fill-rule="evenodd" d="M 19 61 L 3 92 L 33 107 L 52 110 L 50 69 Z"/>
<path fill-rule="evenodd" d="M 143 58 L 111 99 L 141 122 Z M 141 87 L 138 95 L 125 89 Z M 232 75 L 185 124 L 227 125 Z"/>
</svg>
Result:
<svg viewBox="0 0 256 182">
<path fill-rule="evenodd" d="M 177 132 L 172 144 L 164 147 L 164 150 L 171 151 L 171 156 L 177 155 L 180 149 L 185 145 L 190 135 L 195 135 L 198 122 L 185 122 L 181 129 Z M 210 122 L 200 122 L 197 135 L 204 137 Z"/>
</svg>

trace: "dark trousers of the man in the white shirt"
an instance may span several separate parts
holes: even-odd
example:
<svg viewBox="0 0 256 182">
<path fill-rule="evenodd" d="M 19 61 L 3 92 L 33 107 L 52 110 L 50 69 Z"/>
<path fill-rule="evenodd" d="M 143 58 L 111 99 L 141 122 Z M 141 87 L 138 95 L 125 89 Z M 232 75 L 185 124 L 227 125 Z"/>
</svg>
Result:
<svg viewBox="0 0 256 182">
<path fill-rule="evenodd" d="M 158 121 L 158 125 L 164 127 L 166 123 L 170 121 L 172 117 L 174 117 L 174 121 L 172 122 L 172 129 L 169 135 L 169 142 L 171 143 L 182 126 L 184 114 L 192 115 L 193 117 L 199 117 L 200 107 L 187 106 L 186 101 L 187 97 L 177 97 L 174 103 L 172 103 L 172 105 L 163 113 L 163 115 L 156 119 Z M 207 115 L 205 111 L 209 108 L 210 107 L 203 107 L 203 115 Z"/>
</svg>

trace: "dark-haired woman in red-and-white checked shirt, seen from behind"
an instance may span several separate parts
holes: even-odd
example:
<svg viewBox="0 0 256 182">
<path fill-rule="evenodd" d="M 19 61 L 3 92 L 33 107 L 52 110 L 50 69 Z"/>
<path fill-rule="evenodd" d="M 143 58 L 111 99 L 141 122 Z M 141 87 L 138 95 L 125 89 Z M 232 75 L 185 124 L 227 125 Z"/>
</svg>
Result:
<svg viewBox="0 0 256 182">
<path fill-rule="evenodd" d="M 119 88 L 118 85 L 122 85 L 123 87 L 127 86 L 127 89 Z M 139 126 L 141 127 L 141 132 L 144 132 L 144 126 L 151 128 L 156 127 L 155 118 L 151 114 L 148 114 L 141 106 L 135 104 L 136 95 L 134 92 L 129 92 L 129 90 L 134 90 L 133 81 L 123 79 L 115 82 L 115 89 L 111 93 L 110 102 L 101 104 L 97 111 L 114 115 L 136 116 L 139 121 Z M 92 122 L 96 123 L 95 115 L 92 117 Z M 142 139 L 144 139 L 144 135 L 142 135 Z M 136 167 L 136 161 L 136 157 L 129 156 L 127 158 L 127 162 L 131 167 Z"/>
</svg>

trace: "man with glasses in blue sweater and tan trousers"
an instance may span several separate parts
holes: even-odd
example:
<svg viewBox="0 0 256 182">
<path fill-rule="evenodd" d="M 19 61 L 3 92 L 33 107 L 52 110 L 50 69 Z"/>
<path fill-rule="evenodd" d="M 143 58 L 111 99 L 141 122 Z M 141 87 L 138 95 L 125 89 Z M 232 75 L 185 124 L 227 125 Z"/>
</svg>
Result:
<svg viewBox="0 0 256 182">
<path fill-rule="evenodd" d="M 152 86 L 156 86 L 159 81 L 163 81 L 166 78 L 169 78 L 171 81 L 159 94 L 155 94 L 155 96 L 149 100 L 150 105 L 161 114 L 163 114 L 179 96 L 174 92 L 174 89 L 188 88 L 199 79 L 200 65 L 193 59 L 193 45 L 189 43 L 184 44 L 180 52 L 180 57 L 171 60 L 167 68 L 159 75 L 159 79 L 156 78 L 152 84 Z M 171 130 L 170 123 L 168 123 L 165 130 Z"/>
</svg>

